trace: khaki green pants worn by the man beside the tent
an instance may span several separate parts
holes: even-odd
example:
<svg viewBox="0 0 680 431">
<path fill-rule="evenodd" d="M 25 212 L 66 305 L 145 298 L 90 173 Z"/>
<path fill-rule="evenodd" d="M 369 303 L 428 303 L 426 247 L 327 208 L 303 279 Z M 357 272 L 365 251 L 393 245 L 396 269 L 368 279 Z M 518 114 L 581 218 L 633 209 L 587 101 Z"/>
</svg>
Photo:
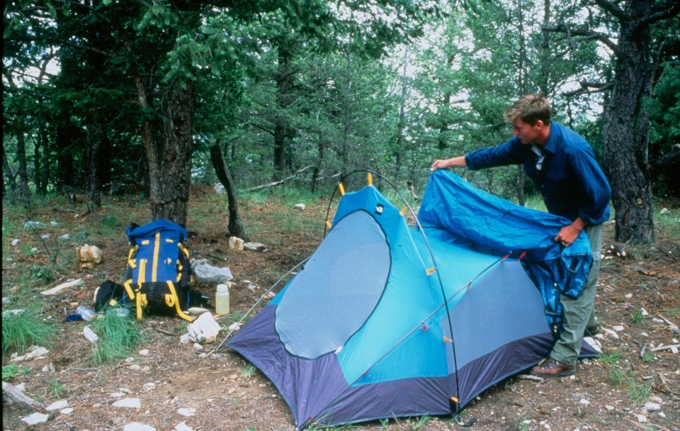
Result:
<svg viewBox="0 0 680 431">
<path fill-rule="evenodd" d="M 562 306 L 565 307 L 564 331 L 560 334 L 550 352 L 550 357 L 562 364 L 576 364 L 581 352 L 583 332 L 586 328 L 593 328 L 595 321 L 595 288 L 600 274 L 600 256 L 602 254 L 602 225 L 588 225 L 584 229 L 590 240 L 593 253 L 593 266 L 588 274 L 586 286 L 578 298 L 560 295 Z"/>
</svg>

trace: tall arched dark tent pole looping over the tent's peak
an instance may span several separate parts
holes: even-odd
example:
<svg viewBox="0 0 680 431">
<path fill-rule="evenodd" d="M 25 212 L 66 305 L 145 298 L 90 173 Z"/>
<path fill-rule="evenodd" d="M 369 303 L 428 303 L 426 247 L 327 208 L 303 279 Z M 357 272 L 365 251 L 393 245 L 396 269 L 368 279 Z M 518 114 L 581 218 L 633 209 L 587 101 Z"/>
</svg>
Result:
<svg viewBox="0 0 680 431">
<path fill-rule="evenodd" d="M 338 184 L 336 185 L 336 187 L 335 187 L 335 189 L 334 189 L 334 191 L 333 191 L 333 194 L 331 194 L 331 198 L 330 198 L 330 201 L 329 201 L 329 203 L 328 203 L 328 209 L 327 209 L 327 211 L 326 211 L 326 223 L 324 223 L 324 237 L 326 236 L 326 229 L 329 228 L 329 225 L 330 225 L 330 223 L 329 223 L 329 221 L 328 221 L 328 216 L 329 216 L 329 213 L 330 213 L 330 210 L 331 210 L 331 203 L 332 203 L 332 201 L 333 201 L 333 198 L 334 198 L 334 196 L 335 196 L 336 191 L 340 190 L 340 191 L 341 191 L 341 194 L 344 194 L 344 187 L 342 186 L 342 181 L 343 181 L 344 179 L 346 179 L 347 177 L 349 177 L 350 175 L 356 174 L 356 173 L 358 173 L 358 172 L 363 172 L 363 173 L 369 174 L 369 177 L 368 177 L 368 178 L 369 178 L 369 182 L 372 182 L 372 179 L 371 179 L 370 175 L 375 175 L 376 177 L 382 179 L 382 181 L 385 181 L 387 184 L 389 184 L 390 186 L 392 186 L 392 189 L 394 189 L 394 190 L 397 192 L 397 195 L 399 195 L 399 198 L 401 198 L 402 201 L 404 202 L 404 205 L 406 205 L 407 208 L 409 208 L 409 211 L 411 212 L 411 215 L 413 216 L 414 220 L 416 221 L 416 225 L 418 225 L 418 230 L 420 231 L 421 235 L 423 236 L 423 240 L 425 241 L 425 246 L 427 247 L 427 250 L 428 250 L 429 253 L 430 253 L 430 259 L 432 260 L 432 264 L 433 264 L 433 268 L 432 268 L 432 269 L 427 269 L 426 271 L 427 271 L 427 274 L 428 274 L 428 275 L 431 275 L 433 272 L 436 272 L 436 274 L 437 274 L 437 280 L 438 280 L 438 282 L 439 282 L 439 289 L 441 289 L 441 296 L 442 296 L 442 298 L 443 298 L 443 300 L 444 300 L 444 303 L 442 304 L 442 306 L 445 306 L 445 307 L 446 307 L 446 320 L 448 320 L 448 330 L 449 330 L 450 335 L 451 335 L 451 350 L 452 350 L 452 352 L 453 352 L 453 368 L 455 369 L 455 393 L 456 393 L 456 395 L 458 395 L 458 397 L 455 397 L 455 398 L 452 397 L 451 399 L 455 401 L 455 410 L 456 410 L 456 413 L 458 413 L 458 411 L 459 411 L 459 408 L 458 408 L 458 399 L 460 399 L 460 385 L 458 384 L 458 361 L 457 361 L 456 355 L 455 355 L 455 341 L 453 340 L 453 324 L 451 323 L 451 315 L 450 315 L 449 310 L 448 310 L 448 299 L 446 298 L 446 292 L 444 292 L 444 286 L 443 286 L 443 282 L 441 281 L 441 275 L 440 275 L 439 272 L 437 271 L 437 262 L 436 262 L 436 259 L 434 258 L 434 253 L 432 252 L 432 249 L 431 249 L 431 247 L 430 247 L 430 242 L 429 242 L 429 240 L 427 239 L 427 235 L 425 235 L 425 230 L 423 229 L 422 225 L 420 224 L 420 220 L 418 220 L 418 217 L 416 216 L 415 211 L 413 211 L 413 208 L 411 207 L 411 205 L 409 204 L 409 202 L 406 200 L 406 198 L 404 198 L 404 195 L 402 195 L 402 193 L 399 191 L 399 189 L 397 189 L 397 186 L 395 186 L 395 184 L 393 184 L 393 183 L 392 183 L 390 180 L 388 180 L 387 178 L 383 177 L 381 174 L 378 174 L 378 172 L 373 172 L 373 171 L 371 171 L 371 170 L 369 170 L 369 169 L 357 169 L 357 170 L 355 170 L 355 171 L 349 172 L 348 174 L 345 174 L 345 175 L 338 181 Z M 369 185 L 373 185 L 373 184 L 369 184 Z M 486 271 L 486 269 L 485 269 L 484 271 Z M 482 271 L 482 273 L 483 273 L 484 271 Z M 480 273 L 480 274 L 482 274 L 482 273 Z M 478 275 L 478 276 L 479 276 L 479 275 Z M 477 278 L 477 277 L 475 277 L 475 279 L 476 279 L 476 278 Z M 441 307 L 438 308 L 438 309 L 441 309 Z M 428 318 L 429 318 L 429 317 L 428 317 Z M 420 325 L 419 325 L 419 326 L 420 326 Z M 409 334 L 407 334 L 407 336 L 410 335 L 410 333 L 411 333 L 411 332 L 409 332 Z M 399 340 L 399 343 L 401 343 L 403 340 L 404 340 L 404 339 Z M 397 345 L 399 345 L 399 343 L 397 343 Z M 392 349 L 394 349 L 395 347 L 397 347 L 397 346 L 395 345 L 394 347 L 392 347 Z M 390 349 L 390 351 L 391 351 L 392 349 Z M 389 353 L 389 352 L 387 352 L 387 353 Z M 387 354 L 387 353 L 386 353 L 386 354 Z M 382 359 L 382 357 L 381 357 L 380 359 Z M 379 360 L 380 360 L 380 359 L 379 359 Z M 376 362 L 376 364 L 377 364 L 377 362 Z M 375 366 L 375 364 L 373 364 L 372 366 L 370 366 L 370 368 L 373 368 L 373 366 Z M 368 372 L 368 371 L 370 370 L 370 368 L 369 368 L 368 370 L 366 370 L 366 372 Z"/>
</svg>

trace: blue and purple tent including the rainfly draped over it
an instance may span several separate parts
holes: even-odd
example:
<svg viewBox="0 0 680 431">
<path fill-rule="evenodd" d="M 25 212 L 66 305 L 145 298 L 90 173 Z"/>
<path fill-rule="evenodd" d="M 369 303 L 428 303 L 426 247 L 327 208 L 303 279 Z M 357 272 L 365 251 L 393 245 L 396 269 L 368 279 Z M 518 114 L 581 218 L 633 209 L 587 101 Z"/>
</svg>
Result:
<svg viewBox="0 0 680 431">
<path fill-rule="evenodd" d="M 228 343 L 299 429 L 454 413 L 550 351 L 550 294 L 580 290 L 587 237 L 555 245 L 568 220 L 450 172 L 431 175 L 419 220 L 373 186 L 344 194 L 304 269 Z"/>
</svg>

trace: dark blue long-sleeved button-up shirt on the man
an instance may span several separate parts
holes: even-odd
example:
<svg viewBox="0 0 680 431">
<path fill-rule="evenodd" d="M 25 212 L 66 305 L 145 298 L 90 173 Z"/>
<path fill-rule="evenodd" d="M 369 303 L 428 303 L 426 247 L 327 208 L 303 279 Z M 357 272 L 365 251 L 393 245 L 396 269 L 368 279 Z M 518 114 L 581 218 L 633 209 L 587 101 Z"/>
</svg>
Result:
<svg viewBox="0 0 680 431">
<path fill-rule="evenodd" d="M 497 147 L 467 153 L 465 162 L 470 169 L 524 164 L 524 171 L 540 190 L 550 213 L 572 221 L 580 217 L 594 225 L 608 220 L 611 187 L 584 138 L 550 121 L 550 135 L 540 163 L 541 157 L 532 147 L 515 136 Z"/>
</svg>

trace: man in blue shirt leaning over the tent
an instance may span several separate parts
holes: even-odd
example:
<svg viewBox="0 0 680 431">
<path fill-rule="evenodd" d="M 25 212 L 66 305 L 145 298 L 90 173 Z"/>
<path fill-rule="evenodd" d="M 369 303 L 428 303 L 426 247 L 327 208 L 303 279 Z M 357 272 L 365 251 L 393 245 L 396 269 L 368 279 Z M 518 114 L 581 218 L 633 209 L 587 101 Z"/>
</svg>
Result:
<svg viewBox="0 0 680 431">
<path fill-rule="evenodd" d="M 528 177 L 543 195 L 548 211 L 572 220 L 555 236 L 569 247 L 585 230 L 593 253 L 587 284 L 576 298 L 560 295 L 565 308 L 564 331 L 548 358 L 531 369 L 541 377 L 572 376 L 584 335 L 598 330 L 595 320 L 595 287 L 599 275 L 602 223 L 609 218 L 611 188 L 586 140 L 551 119 L 545 96 L 528 94 L 505 111 L 514 137 L 497 147 L 482 148 L 465 156 L 433 162 L 432 171 L 447 167 L 482 169 L 523 164 Z"/>
</svg>

